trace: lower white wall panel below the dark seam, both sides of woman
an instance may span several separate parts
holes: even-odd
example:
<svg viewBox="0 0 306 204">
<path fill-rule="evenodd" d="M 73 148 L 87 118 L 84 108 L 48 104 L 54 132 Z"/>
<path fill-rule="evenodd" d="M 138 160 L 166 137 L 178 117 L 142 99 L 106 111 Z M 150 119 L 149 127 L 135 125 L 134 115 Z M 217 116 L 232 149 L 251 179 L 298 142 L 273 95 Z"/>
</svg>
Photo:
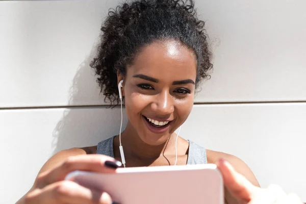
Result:
<svg viewBox="0 0 306 204">
<path fill-rule="evenodd" d="M 0 111 L 2 202 L 13 203 L 32 185 L 55 152 L 97 144 L 119 132 L 119 109 Z M 306 104 L 197 105 L 181 136 L 233 154 L 253 170 L 262 187 L 281 185 L 306 200 Z M 124 117 L 124 125 L 126 117 Z M 16 188 L 17 187 L 17 188 Z"/>
</svg>

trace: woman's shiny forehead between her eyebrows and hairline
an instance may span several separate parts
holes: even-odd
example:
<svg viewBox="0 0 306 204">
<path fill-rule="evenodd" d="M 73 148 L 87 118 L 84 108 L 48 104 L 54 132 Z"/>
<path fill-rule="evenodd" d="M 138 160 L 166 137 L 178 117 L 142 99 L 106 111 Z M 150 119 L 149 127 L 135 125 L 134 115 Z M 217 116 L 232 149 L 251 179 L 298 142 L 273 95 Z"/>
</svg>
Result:
<svg viewBox="0 0 306 204">
<path fill-rule="evenodd" d="M 154 42 L 143 47 L 127 75 L 145 74 L 160 81 L 196 78 L 196 58 L 192 50 L 176 41 Z"/>
</svg>

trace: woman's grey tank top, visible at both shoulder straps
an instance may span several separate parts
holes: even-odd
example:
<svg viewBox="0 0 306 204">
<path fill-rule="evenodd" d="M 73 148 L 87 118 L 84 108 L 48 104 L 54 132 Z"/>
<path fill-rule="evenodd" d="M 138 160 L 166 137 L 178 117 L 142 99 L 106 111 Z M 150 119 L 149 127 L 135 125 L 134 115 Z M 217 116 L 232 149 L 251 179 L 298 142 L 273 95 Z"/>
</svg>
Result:
<svg viewBox="0 0 306 204">
<path fill-rule="evenodd" d="M 114 136 L 115 137 L 115 136 Z M 114 158 L 113 142 L 114 137 L 101 141 L 97 145 L 97 154 L 106 155 Z M 190 164 L 207 164 L 206 149 L 189 141 L 189 151 L 187 165 Z"/>
</svg>

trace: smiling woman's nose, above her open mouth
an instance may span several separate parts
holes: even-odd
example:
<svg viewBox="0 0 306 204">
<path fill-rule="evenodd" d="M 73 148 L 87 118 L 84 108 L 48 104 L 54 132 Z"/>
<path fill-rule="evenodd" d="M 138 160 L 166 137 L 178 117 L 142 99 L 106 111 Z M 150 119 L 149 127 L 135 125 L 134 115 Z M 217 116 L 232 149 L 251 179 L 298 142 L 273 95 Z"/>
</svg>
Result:
<svg viewBox="0 0 306 204">
<path fill-rule="evenodd" d="M 174 99 L 168 90 L 163 90 L 155 96 L 155 101 L 151 104 L 152 111 L 160 115 L 168 115 L 173 113 Z"/>
</svg>

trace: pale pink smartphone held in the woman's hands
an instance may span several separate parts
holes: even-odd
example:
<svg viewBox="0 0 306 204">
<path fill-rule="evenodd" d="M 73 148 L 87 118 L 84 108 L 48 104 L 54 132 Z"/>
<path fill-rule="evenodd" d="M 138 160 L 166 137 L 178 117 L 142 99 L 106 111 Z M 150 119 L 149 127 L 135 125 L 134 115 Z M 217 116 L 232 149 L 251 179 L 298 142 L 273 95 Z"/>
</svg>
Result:
<svg viewBox="0 0 306 204">
<path fill-rule="evenodd" d="M 66 180 L 108 192 L 121 204 L 224 203 L 222 175 L 214 164 L 118 168 L 114 174 L 73 171 Z"/>
</svg>

